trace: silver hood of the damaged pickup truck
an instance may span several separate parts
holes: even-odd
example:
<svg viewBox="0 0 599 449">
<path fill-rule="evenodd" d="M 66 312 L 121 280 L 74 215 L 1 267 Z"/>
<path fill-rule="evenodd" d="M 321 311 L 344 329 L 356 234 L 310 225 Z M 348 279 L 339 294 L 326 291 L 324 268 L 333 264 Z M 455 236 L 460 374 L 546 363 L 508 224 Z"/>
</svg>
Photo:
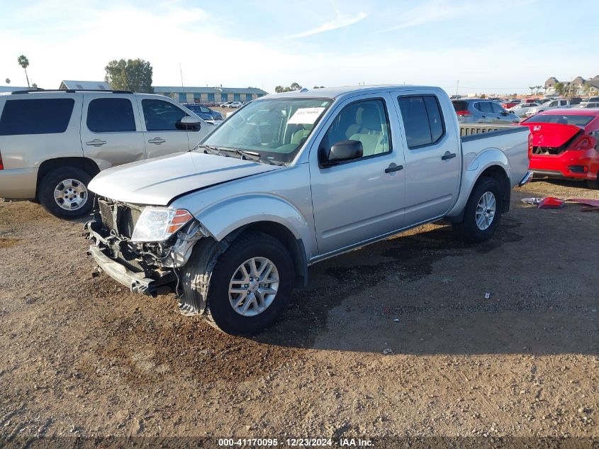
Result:
<svg viewBox="0 0 599 449">
<path fill-rule="evenodd" d="M 103 170 L 91 180 L 89 189 L 126 203 L 167 206 L 174 197 L 186 192 L 281 168 L 235 157 L 186 152 Z"/>
</svg>

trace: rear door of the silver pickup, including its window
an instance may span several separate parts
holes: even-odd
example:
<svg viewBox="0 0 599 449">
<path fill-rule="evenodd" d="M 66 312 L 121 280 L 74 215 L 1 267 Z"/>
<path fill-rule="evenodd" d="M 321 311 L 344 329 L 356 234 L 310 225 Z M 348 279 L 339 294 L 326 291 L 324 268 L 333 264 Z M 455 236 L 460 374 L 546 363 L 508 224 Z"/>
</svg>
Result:
<svg viewBox="0 0 599 449">
<path fill-rule="evenodd" d="M 436 92 L 396 94 L 405 152 L 405 225 L 443 216 L 459 194 L 459 134 L 447 101 Z M 486 102 L 488 104 L 488 102 Z M 442 106 L 445 104 L 445 106 Z M 444 117 L 449 117 L 445 126 Z"/>
</svg>

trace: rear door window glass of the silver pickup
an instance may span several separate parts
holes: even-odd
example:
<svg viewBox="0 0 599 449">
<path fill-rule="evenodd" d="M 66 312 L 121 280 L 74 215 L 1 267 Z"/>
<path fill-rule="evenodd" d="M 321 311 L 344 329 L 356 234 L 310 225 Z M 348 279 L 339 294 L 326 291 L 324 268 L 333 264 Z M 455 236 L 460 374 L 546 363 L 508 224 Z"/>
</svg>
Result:
<svg viewBox="0 0 599 449">
<path fill-rule="evenodd" d="M 398 101 L 408 148 L 432 145 L 442 138 L 445 128 L 436 96 L 400 96 Z"/>
</svg>

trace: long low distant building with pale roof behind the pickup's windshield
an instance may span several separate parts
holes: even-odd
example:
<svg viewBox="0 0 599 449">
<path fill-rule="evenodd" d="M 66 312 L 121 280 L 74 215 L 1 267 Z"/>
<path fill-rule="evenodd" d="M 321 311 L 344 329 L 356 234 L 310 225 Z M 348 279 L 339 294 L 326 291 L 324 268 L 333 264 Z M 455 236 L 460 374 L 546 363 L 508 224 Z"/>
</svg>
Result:
<svg viewBox="0 0 599 449">
<path fill-rule="evenodd" d="M 257 87 L 172 87 L 155 86 L 155 94 L 169 96 L 179 103 L 217 103 L 224 101 L 252 101 L 267 95 Z"/>
</svg>

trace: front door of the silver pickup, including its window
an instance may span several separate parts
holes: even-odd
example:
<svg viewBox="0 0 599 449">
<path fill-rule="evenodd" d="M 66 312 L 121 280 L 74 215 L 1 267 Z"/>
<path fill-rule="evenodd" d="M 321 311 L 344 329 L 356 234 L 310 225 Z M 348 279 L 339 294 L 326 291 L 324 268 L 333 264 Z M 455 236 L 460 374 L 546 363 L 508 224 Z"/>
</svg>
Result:
<svg viewBox="0 0 599 449">
<path fill-rule="evenodd" d="M 388 107 L 389 101 L 388 94 L 346 101 L 340 112 L 328 120 L 324 128 L 327 131 L 317 136 L 310 151 L 312 203 L 320 255 L 403 226 L 403 145 L 396 113 L 392 106 Z M 362 157 L 324 167 L 322 155 L 342 140 L 362 142 Z"/>
</svg>

